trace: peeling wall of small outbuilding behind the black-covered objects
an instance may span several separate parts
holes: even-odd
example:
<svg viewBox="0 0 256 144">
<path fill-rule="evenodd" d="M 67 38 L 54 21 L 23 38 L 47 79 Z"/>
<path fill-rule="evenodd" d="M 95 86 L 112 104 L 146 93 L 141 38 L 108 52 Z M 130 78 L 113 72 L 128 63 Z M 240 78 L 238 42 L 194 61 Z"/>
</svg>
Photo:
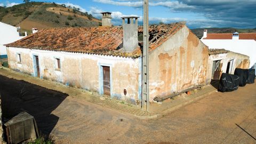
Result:
<svg viewBox="0 0 256 144">
<path fill-rule="evenodd" d="M 235 73 L 236 68 L 249 69 L 249 66 L 250 66 L 250 58 L 244 54 L 228 52 L 228 53 L 210 55 L 208 68 L 207 68 L 208 69 L 207 70 L 207 82 L 211 82 L 212 66 L 213 66 L 213 61 L 215 61 L 215 60 L 221 60 L 220 63 L 222 63 L 222 67 L 221 67 L 222 73 L 226 73 L 228 62 L 230 60 L 234 60 L 231 74 Z"/>
</svg>

